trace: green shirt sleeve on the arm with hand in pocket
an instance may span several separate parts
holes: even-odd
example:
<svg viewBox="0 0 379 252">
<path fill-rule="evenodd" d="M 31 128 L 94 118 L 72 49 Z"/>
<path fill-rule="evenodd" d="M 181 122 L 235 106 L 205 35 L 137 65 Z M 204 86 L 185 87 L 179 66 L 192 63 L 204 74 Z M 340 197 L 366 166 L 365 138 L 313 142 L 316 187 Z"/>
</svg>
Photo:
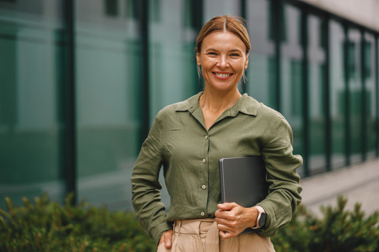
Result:
<svg viewBox="0 0 379 252">
<path fill-rule="evenodd" d="M 166 220 L 158 181 L 163 162 L 158 115 L 142 145 L 132 173 L 132 203 L 141 227 L 158 244 L 162 233 L 172 229 Z"/>
</svg>

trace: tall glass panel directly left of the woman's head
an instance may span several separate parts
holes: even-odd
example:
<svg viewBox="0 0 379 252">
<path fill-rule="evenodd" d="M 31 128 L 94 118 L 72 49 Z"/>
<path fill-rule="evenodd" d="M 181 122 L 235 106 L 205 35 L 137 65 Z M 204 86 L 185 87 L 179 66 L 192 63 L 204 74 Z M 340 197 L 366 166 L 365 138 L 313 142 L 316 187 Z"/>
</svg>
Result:
<svg viewBox="0 0 379 252">
<path fill-rule="evenodd" d="M 153 2 L 149 9 L 157 12 Z M 193 4 L 191 0 L 160 0 L 160 12 L 155 14 L 160 21 L 150 20 L 150 125 L 164 106 L 186 100 L 201 89 L 195 60 Z"/>
</svg>

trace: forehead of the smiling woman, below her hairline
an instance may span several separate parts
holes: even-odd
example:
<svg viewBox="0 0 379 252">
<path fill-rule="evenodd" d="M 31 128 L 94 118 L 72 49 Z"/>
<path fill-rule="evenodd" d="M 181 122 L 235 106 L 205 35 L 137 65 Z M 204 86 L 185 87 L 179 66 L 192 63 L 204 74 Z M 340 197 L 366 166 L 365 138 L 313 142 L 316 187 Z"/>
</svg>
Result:
<svg viewBox="0 0 379 252">
<path fill-rule="evenodd" d="M 207 49 L 227 49 L 246 51 L 244 42 L 230 31 L 213 31 L 208 34 L 201 45 L 202 50 Z"/>
</svg>

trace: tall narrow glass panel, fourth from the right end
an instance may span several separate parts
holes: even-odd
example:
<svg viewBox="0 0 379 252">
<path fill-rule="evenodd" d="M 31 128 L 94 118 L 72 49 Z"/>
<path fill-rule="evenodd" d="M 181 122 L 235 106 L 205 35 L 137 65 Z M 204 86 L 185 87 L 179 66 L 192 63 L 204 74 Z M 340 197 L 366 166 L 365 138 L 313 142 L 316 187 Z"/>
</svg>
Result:
<svg viewBox="0 0 379 252">
<path fill-rule="evenodd" d="M 325 153 L 325 47 L 323 46 L 323 20 L 308 17 L 309 59 L 309 151 L 310 172 L 326 170 Z"/>
</svg>

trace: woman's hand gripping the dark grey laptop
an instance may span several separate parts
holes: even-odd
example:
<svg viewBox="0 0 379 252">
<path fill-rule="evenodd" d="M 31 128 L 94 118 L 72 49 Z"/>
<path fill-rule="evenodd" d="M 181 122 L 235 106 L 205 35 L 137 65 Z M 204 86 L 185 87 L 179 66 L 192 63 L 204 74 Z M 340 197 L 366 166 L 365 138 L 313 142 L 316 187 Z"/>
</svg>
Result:
<svg viewBox="0 0 379 252">
<path fill-rule="evenodd" d="M 219 208 L 215 213 L 217 228 L 223 239 L 235 237 L 247 227 L 253 227 L 257 223 L 258 210 L 255 207 L 245 208 L 235 202 L 218 204 L 217 207 Z"/>
</svg>

